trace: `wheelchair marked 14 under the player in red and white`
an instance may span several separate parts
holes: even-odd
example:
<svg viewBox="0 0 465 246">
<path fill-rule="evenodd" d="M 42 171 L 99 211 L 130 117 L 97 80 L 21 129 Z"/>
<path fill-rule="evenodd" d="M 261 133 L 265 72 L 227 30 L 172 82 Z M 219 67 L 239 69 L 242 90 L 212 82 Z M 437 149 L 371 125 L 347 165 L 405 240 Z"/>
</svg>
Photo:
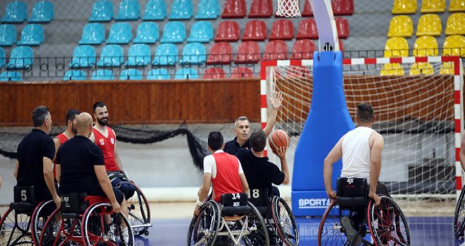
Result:
<svg viewBox="0 0 465 246">
<path fill-rule="evenodd" d="M 221 195 L 200 207 L 187 232 L 187 245 L 270 245 L 265 221 L 247 193 Z"/>
</svg>

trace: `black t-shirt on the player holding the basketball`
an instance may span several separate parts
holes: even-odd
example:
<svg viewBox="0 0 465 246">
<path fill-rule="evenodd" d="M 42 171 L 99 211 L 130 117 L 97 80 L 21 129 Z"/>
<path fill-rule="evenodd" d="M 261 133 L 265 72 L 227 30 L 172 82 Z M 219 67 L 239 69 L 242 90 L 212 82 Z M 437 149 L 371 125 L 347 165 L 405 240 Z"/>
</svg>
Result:
<svg viewBox="0 0 465 246">
<path fill-rule="evenodd" d="M 278 166 L 271 163 L 268 157 L 256 157 L 252 150 L 241 148 L 237 151 L 237 159 L 244 169 L 245 178 L 249 187 L 268 188 L 271 192 L 271 183 L 280 185 L 284 181 L 284 173 Z"/>
</svg>

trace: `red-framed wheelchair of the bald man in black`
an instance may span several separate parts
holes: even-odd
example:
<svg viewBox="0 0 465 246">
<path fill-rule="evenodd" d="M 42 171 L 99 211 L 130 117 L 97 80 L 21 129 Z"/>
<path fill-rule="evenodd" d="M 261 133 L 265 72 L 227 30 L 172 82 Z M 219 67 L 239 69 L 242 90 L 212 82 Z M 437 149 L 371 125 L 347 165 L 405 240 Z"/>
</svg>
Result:
<svg viewBox="0 0 465 246">
<path fill-rule="evenodd" d="M 44 225 L 39 245 L 135 245 L 128 219 L 114 213 L 107 198 L 71 193 L 61 200 L 61 208 Z"/>
</svg>

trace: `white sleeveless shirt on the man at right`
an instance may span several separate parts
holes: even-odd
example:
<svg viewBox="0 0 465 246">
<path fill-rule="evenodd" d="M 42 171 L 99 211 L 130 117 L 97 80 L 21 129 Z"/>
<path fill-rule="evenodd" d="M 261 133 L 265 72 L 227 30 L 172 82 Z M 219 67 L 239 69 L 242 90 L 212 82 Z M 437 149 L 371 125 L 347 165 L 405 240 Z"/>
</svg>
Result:
<svg viewBox="0 0 465 246">
<path fill-rule="evenodd" d="M 342 171 L 346 178 L 365 178 L 370 181 L 370 145 L 373 129 L 357 127 L 347 132 L 342 139 Z"/>
</svg>

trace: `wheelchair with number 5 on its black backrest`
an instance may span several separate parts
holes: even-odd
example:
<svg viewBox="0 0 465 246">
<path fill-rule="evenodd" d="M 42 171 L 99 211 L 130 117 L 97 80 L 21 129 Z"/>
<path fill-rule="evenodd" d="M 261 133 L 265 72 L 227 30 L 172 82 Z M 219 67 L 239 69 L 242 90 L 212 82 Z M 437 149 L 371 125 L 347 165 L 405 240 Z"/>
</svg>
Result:
<svg viewBox="0 0 465 246">
<path fill-rule="evenodd" d="M 14 202 L 0 219 L 0 245 L 37 244 L 55 203 L 37 202 L 34 186 L 15 186 L 13 194 Z"/>
</svg>

